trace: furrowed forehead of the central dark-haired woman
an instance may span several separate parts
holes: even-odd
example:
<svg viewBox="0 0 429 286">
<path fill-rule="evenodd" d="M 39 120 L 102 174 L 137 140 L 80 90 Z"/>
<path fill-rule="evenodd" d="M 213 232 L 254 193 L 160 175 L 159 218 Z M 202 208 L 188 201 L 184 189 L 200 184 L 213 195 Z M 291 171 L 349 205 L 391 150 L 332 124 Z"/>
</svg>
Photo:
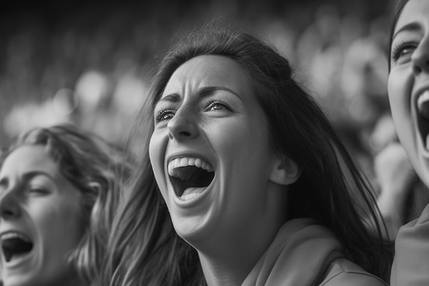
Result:
<svg viewBox="0 0 429 286">
<path fill-rule="evenodd" d="M 197 56 L 184 62 L 171 75 L 164 94 L 183 88 L 225 86 L 232 90 L 250 89 L 250 77 L 245 68 L 226 56 Z"/>
</svg>

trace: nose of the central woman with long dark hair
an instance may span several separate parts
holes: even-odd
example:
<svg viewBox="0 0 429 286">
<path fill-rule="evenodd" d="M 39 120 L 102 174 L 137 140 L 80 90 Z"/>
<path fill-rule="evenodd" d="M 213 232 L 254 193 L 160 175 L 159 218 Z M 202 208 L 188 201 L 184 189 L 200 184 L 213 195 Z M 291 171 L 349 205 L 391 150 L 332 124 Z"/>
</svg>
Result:
<svg viewBox="0 0 429 286">
<path fill-rule="evenodd" d="M 196 115 L 189 109 L 177 110 L 167 127 L 170 140 L 186 141 L 199 135 Z"/>
</svg>

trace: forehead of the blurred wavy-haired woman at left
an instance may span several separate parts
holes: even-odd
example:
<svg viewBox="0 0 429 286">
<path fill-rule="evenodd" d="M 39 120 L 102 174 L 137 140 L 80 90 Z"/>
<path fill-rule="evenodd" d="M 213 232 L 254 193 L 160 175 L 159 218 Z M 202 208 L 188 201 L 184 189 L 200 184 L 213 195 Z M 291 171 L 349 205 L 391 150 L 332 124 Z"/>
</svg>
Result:
<svg viewBox="0 0 429 286">
<path fill-rule="evenodd" d="M 23 145 L 5 158 L 0 169 L 0 177 L 9 172 L 45 171 L 56 175 L 58 166 L 42 145 Z"/>
</svg>

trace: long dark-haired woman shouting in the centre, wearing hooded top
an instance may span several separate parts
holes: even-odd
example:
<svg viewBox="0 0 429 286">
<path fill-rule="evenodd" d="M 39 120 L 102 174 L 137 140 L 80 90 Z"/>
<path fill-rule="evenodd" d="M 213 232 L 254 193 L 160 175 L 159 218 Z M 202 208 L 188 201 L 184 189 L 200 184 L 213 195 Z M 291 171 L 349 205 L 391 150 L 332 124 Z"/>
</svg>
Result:
<svg viewBox="0 0 429 286">
<path fill-rule="evenodd" d="M 149 158 L 113 227 L 103 285 L 386 285 L 381 228 L 373 237 L 363 223 L 377 222 L 371 191 L 269 44 L 190 34 L 150 100 Z"/>
</svg>

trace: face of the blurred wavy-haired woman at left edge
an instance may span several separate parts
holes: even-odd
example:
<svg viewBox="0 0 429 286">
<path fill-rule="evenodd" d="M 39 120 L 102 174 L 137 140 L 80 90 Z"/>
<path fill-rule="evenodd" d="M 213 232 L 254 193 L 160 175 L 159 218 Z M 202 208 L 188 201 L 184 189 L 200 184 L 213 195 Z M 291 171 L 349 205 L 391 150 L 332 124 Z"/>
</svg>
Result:
<svg viewBox="0 0 429 286">
<path fill-rule="evenodd" d="M 41 145 L 24 145 L 0 169 L 1 278 L 63 285 L 67 254 L 83 234 L 82 199 Z"/>
</svg>

